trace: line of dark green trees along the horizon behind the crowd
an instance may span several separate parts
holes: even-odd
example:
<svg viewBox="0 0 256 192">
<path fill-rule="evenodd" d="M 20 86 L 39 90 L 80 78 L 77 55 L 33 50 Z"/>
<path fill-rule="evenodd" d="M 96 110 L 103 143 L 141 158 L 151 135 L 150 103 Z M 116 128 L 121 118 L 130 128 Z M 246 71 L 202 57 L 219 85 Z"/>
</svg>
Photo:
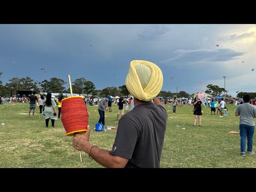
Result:
<svg viewBox="0 0 256 192">
<path fill-rule="evenodd" d="M 0 72 L 0 78 L 2 76 L 2 72 Z M 39 92 L 51 92 L 51 93 L 70 93 L 70 89 L 66 89 L 64 85 L 67 82 L 60 78 L 50 78 L 50 80 L 43 80 L 41 82 L 38 82 L 37 80 L 33 80 L 30 77 L 26 76 L 25 78 L 17 78 L 14 77 L 9 80 L 9 83 L 6 83 L 5 85 L 2 84 L 2 81 L 0 79 L 0 96 L 6 97 L 11 95 L 16 95 L 16 90 L 18 87 L 18 90 L 33 90 L 37 93 Z M 206 86 L 208 90 L 206 90 L 206 93 L 212 94 L 213 96 L 221 95 L 225 92 L 224 88 L 221 88 L 217 85 L 209 84 Z M 126 96 L 130 94 L 129 91 L 126 88 L 126 85 L 122 85 L 119 87 L 106 87 L 102 90 L 96 90 L 96 86 L 93 82 L 86 80 L 84 77 L 78 78 L 72 82 L 72 91 L 73 93 L 77 93 L 79 95 L 82 94 L 92 94 L 93 96 L 99 96 L 99 97 L 106 97 L 108 95 L 108 92 L 111 92 L 112 96 Z M 227 94 L 228 90 L 226 90 L 226 96 L 230 96 Z M 237 94 L 237 97 L 242 97 L 244 94 L 249 94 L 252 98 L 256 98 L 256 93 L 247 93 L 247 92 L 240 92 Z M 190 95 L 185 91 L 180 91 L 178 93 L 170 92 L 170 91 L 160 91 L 158 96 L 162 96 L 163 98 L 188 98 Z"/>
</svg>

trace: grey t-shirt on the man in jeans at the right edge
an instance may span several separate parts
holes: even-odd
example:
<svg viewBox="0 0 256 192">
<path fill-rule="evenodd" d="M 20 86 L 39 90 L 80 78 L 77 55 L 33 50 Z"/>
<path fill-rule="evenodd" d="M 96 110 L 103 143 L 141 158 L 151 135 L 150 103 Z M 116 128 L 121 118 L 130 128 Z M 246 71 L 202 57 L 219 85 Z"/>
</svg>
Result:
<svg viewBox="0 0 256 192">
<path fill-rule="evenodd" d="M 236 108 L 236 113 L 239 113 L 240 124 L 255 126 L 254 115 L 256 115 L 256 107 L 250 103 L 244 103 Z"/>
</svg>

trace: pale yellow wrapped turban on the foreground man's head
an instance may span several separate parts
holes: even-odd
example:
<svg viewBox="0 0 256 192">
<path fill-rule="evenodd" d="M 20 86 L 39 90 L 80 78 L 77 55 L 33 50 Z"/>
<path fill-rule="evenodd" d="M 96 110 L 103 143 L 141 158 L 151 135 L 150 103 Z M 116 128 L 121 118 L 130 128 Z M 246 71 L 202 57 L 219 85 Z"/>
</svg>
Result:
<svg viewBox="0 0 256 192">
<path fill-rule="evenodd" d="M 162 88 L 163 74 L 152 62 L 133 60 L 130 62 L 125 84 L 132 96 L 142 101 L 150 101 Z"/>
</svg>

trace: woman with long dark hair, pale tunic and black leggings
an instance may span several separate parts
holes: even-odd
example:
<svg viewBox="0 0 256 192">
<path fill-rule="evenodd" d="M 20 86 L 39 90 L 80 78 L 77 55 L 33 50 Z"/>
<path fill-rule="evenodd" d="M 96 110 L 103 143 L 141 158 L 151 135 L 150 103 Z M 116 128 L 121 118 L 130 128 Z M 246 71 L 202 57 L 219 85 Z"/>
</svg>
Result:
<svg viewBox="0 0 256 192">
<path fill-rule="evenodd" d="M 44 108 L 44 114 L 45 114 L 45 124 L 46 128 L 48 128 L 49 120 L 52 121 L 52 128 L 54 128 L 54 119 L 56 114 L 56 103 L 52 99 L 52 94 L 47 93 L 46 99 L 44 100 L 43 108 Z"/>
</svg>

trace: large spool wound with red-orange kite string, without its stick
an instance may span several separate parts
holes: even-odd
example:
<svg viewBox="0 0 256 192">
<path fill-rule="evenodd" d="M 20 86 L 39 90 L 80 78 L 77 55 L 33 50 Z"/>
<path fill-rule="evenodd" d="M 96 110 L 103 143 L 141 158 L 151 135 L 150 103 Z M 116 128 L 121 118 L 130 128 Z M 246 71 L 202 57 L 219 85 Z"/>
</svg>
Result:
<svg viewBox="0 0 256 192">
<path fill-rule="evenodd" d="M 62 100 L 61 121 L 67 136 L 87 130 L 88 111 L 84 99 L 80 96 L 68 97 Z"/>
</svg>

